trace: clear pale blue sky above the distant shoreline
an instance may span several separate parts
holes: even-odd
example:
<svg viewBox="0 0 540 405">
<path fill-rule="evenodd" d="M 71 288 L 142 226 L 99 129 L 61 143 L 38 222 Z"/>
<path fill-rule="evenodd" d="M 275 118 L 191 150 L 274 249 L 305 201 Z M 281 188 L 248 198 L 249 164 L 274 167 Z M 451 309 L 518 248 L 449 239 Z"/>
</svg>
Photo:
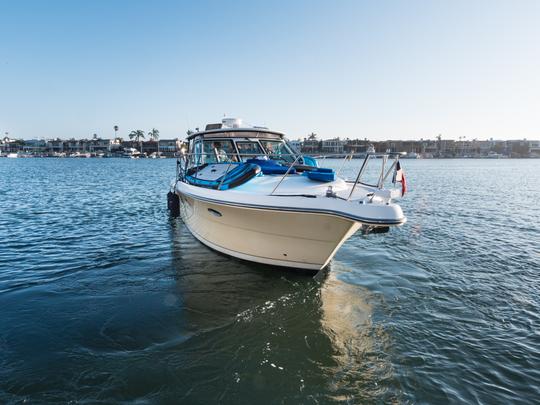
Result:
<svg viewBox="0 0 540 405">
<path fill-rule="evenodd" d="M 0 131 L 540 138 L 540 1 L 0 0 Z"/>
</svg>

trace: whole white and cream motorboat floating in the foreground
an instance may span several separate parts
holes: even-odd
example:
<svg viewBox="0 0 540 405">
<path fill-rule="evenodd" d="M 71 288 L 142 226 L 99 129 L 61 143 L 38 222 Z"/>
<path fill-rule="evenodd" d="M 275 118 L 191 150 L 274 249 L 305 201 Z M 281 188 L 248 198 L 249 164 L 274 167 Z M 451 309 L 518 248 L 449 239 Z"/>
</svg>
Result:
<svg viewBox="0 0 540 405">
<path fill-rule="evenodd" d="M 404 190 L 384 188 L 392 177 L 404 182 L 398 154 L 367 154 L 349 181 L 294 153 L 282 133 L 237 119 L 209 124 L 187 142 L 169 208 L 219 252 L 319 270 L 359 229 L 386 231 L 406 221 L 394 202 Z M 363 178 L 370 162 L 381 165 L 376 184 Z"/>
</svg>

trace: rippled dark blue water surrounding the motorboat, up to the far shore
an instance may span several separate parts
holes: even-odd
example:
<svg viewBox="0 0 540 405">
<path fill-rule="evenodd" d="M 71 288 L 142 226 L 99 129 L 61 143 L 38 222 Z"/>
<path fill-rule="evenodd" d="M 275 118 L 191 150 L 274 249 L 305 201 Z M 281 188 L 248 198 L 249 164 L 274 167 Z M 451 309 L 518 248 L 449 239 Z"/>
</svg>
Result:
<svg viewBox="0 0 540 405">
<path fill-rule="evenodd" d="M 0 159 L 0 403 L 538 403 L 540 161 L 403 166 L 313 278 L 171 220 L 174 160 Z"/>
</svg>

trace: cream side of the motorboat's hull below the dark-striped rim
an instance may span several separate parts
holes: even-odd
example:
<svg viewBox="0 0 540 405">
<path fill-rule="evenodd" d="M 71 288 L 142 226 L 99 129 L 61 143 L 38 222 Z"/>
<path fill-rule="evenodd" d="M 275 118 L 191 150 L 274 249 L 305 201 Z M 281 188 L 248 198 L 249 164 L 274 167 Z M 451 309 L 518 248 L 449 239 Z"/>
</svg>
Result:
<svg viewBox="0 0 540 405">
<path fill-rule="evenodd" d="M 276 266 L 320 270 L 361 226 L 339 216 L 217 204 L 177 191 L 180 215 L 219 252 Z"/>
</svg>

